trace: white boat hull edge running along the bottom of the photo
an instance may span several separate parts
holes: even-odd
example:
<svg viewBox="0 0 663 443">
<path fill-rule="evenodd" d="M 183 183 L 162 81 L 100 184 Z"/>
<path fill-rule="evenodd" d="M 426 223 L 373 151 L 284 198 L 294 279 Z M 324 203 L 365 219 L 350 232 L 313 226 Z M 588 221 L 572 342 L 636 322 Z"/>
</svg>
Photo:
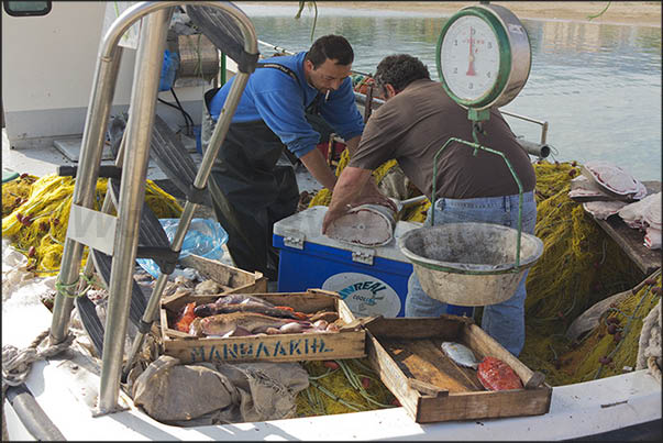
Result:
<svg viewBox="0 0 663 443">
<path fill-rule="evenodd" d="M 2 317 L 3 346 L 23 348 L 51 326 L 51 313 L 43 306 L 10 307 Z M 65 358 L 73 354 L 75 358 Z M 93 417 L 99 377 L 86 369 L 87 358 L 69 350 L 35 362 L 25 381 L 66 440 L 565 440 L 661 420 L 661 385 L 647 370 L 637 370 L 554 387 L 550 412 L 543 416 L 419 424 L 405 408 L 394 408 L 178 428 L 153 420 L 123 394 L 128 410 Z M 4 409 L 9 439 L 34 439 L 8 401 Z"/>
</svg>

